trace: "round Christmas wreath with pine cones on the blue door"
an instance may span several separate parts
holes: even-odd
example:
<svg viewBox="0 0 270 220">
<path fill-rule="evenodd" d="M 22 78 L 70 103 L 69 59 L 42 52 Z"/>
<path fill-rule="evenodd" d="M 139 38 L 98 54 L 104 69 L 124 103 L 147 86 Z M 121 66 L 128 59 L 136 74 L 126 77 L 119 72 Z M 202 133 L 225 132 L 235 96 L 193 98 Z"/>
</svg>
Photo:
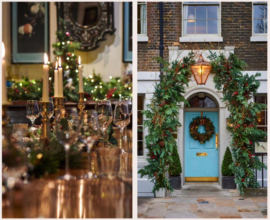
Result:
<svg viewBox="0 0 270 220">
<path fill-rule="evenodd" d="M 204 126 L 205 133 L 198 132 L 199 126 Z M 214 125 L 209 118 L 205 117 L 195 117 L 189 124 L 189 134 L 194 140 L 198 140 L 201 144 L 209 141 L 214 134 Z"/>
</svg>

